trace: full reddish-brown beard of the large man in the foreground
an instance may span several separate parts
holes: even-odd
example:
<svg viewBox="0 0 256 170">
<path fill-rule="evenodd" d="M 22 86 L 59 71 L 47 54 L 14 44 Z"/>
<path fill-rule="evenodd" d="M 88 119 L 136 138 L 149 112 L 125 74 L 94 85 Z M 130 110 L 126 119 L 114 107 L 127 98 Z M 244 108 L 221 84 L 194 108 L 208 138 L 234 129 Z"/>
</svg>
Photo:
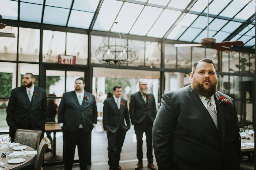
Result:
<svg viewBox="0 0 256 170">
<path fill-rule="evenodd" d="M 204 82 L 208 81 L 210 84 L 210 87 L 208 89 L 204 88 Z M 214 93 L 217 91 L 217 87 L 218 87 L 218 80 L 216 80 L 213 84 L 210 83 L 210 80 L 205 80 L 203 83 L 199 83 L 198 81 L 196 81 L 195 79 L 193 79 L 192 81 L 192 89 L 198 93 L 200 96 L 204 96 L 204 97 L 210 97 L 212 95 L 214 95 Z"/>
</svg>

